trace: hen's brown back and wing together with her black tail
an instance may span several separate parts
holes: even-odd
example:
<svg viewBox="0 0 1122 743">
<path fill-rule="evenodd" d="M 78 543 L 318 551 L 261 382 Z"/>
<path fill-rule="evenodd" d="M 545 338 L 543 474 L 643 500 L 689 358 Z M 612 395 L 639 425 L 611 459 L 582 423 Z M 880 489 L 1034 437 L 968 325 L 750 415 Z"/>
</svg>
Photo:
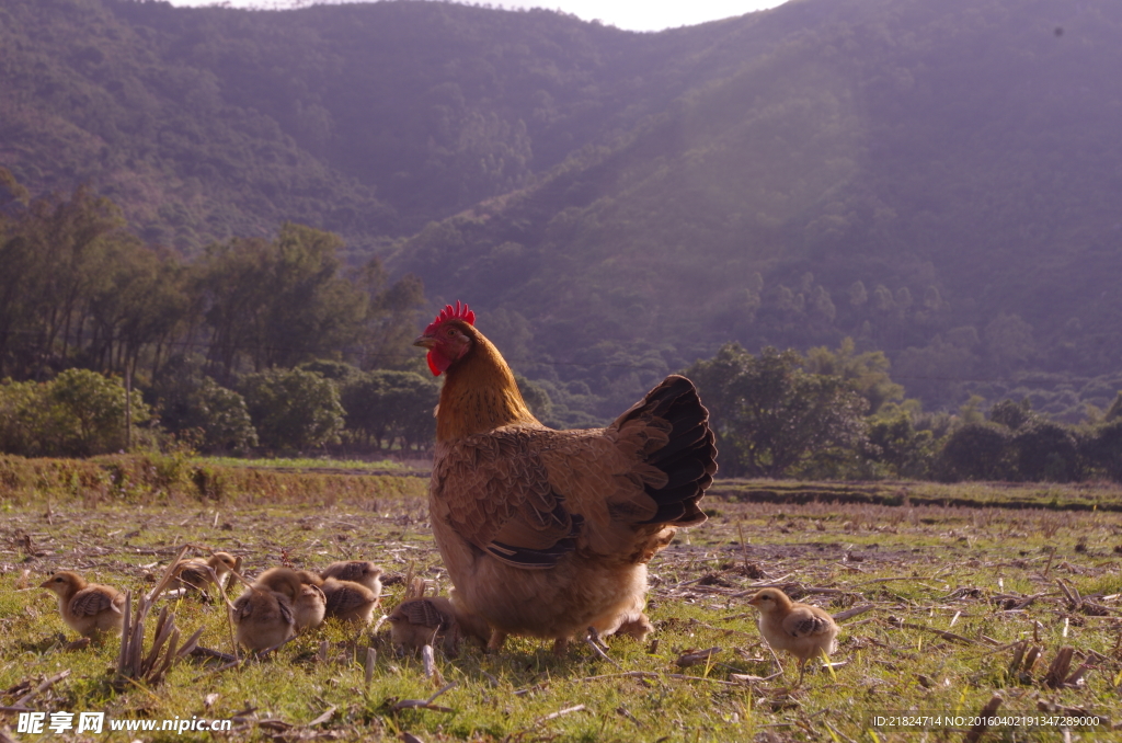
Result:
<svg viewBox="0 0 1122 743">
<path fill-rule="evenodd" d="M 467 437 L 436 465 L 433 516 L 521 568 L 578 548 L 649 559 L 663 526 L 706 520 L 697 502 L 717 470 L 708 415 L 693 384 L 671 376 L 605 430 Z"/>
</svg>

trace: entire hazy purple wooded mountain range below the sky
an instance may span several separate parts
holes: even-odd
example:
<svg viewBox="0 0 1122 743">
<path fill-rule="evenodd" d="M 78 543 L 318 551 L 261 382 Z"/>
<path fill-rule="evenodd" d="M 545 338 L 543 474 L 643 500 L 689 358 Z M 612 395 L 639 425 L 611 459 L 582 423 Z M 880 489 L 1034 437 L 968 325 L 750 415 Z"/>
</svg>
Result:
<svg viewBox="0 0 1122 743">
<path fill-rule="evenodd" d="M 929 405 L 1069 413 L 1122 369 L 1113 0 L 795 0 L 660 34 L 0 0 L 0 164 L 33 193 L 88 181 L 188 255 L 338 231 L 574 395 L 729 340 L 849 336 Z"/>
</svg>

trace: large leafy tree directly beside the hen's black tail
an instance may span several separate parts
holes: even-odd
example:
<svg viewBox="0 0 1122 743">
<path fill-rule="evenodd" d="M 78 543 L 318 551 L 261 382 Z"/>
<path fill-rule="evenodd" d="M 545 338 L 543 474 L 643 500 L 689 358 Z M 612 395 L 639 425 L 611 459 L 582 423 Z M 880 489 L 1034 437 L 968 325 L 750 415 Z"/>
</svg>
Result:
<svg viewBox="0 0 1122 743">
<path fill-rule="evenodd" d="M 753 357 L 733 343 L 686 372 L 712 415 L 726 471 L 782 477 L 861 440 L 864 401 L 840 376 L 807 373 L 802 363 L 791 350 Z"/>
</svg>

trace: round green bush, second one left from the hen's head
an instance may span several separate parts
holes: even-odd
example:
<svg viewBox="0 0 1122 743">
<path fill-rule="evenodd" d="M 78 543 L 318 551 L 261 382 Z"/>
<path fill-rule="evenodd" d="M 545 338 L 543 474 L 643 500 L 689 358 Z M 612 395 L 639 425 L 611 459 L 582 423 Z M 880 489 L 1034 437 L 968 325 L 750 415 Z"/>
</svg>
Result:
<svg viewBox="0 0 1122 743">
<path fill-rule="evenodd" d="M 269 369 L 247 375 L 242 387 L 261 446 L 304 451 L 339 441 L 344 411 L 330 379 L 303 369 Z"/>
</svg>

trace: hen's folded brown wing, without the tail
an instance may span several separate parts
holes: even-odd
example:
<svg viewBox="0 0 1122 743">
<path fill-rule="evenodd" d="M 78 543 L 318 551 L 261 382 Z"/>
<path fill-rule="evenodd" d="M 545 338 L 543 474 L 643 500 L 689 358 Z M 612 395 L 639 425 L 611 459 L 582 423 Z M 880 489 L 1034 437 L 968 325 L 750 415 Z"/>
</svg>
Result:
<svg viewBox="0 0 1122 743">
<path fill-rule="evenodd" d="M 576 547 L 582 521 L 565 510 L 540 456 L 559 435 L 508 426 L 457 442 L 434 471 L 434 516 L 504 562 L 553 567 Z"/>
</svg>

